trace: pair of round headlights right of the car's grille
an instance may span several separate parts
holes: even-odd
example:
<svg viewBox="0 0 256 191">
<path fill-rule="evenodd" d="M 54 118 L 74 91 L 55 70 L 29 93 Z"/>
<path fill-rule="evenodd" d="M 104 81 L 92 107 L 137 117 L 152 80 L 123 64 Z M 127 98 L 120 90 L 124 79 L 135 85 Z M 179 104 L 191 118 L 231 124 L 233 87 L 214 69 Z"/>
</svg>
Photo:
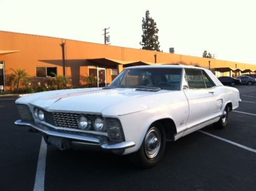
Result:
<svg viewBox="0 0 256 191">
<path fill-rule="evenodd" d="M 90 123 L 91 121 L 88 119 L 88 117 L 84 116 L 84 115 L 80 115 L 78 116 L 78 127 L 81 130 L 88 130 L 90 129 Z M 95 117 L 93 119 L 93 128 L 96 131 L 105 131 L 105 126 L 104 126 L 104 120 L 100 117 Z"/>
</svg>

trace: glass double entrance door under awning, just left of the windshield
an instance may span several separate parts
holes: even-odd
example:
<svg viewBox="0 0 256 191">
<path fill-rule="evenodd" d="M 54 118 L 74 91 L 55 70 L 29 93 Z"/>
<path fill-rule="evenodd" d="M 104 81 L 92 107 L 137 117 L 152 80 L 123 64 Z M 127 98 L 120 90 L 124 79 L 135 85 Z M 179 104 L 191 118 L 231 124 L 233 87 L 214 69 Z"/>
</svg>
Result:
<svg viewBox="0 0 256 191">
<path fill-rule="evenodd" d="M 106 69 L 89 68 L 89 87 L 106 86 Z"/>
</svg>

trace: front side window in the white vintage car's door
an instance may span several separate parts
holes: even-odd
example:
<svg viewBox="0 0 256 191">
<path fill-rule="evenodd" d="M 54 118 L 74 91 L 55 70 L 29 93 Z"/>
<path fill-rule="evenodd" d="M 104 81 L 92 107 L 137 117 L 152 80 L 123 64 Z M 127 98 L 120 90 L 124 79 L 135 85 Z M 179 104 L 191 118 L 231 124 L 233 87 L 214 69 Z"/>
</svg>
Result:
<svg viewBox="0 0 256 191">
<path fill-rule="evenodd" d="M 202 89 L 205 87 L 204 78 L 199 69 L 185 69 L 189 89 Z"/>
</svg>

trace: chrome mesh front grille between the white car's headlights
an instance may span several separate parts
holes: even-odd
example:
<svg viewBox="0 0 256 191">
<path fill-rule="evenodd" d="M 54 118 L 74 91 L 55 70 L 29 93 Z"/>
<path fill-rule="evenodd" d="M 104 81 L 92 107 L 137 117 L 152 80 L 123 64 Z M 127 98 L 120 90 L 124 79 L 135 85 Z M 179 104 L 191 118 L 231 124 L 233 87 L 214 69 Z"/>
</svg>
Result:
<svg viewBox="0 0 256 191">
<path fill-rule="evenodd" d="M 61 128 L 78 129 L 77 119 L 80 114 L 46 112 L 45 121 Z"/>
</svg>

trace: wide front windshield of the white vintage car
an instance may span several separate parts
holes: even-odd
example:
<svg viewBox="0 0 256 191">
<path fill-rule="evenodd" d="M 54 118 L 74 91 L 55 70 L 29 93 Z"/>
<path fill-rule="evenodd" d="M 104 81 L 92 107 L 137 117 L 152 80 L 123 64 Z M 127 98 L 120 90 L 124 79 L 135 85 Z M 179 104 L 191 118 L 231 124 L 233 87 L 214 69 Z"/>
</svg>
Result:
<svg viewBox="0 0 256 191">
<path fill-rule="evenodd" d="M 107 88 L 180 90 L 181 76 L 180 68 L 131 68 L 124 70 Z"/>
</svg>

